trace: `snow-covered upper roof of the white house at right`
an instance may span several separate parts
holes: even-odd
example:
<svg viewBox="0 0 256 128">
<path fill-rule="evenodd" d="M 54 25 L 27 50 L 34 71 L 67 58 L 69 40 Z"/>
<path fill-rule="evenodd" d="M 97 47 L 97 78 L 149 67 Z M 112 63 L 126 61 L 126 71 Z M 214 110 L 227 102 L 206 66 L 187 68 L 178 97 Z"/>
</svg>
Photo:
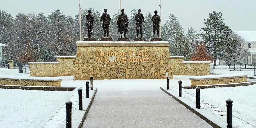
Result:
<svg viewBox="0 0 256 128">
<path fill-rule="evenodd" d="M 240 36 L 245 42 L 256 42 L 256 31 L 233 31 Z"/>
</svg>

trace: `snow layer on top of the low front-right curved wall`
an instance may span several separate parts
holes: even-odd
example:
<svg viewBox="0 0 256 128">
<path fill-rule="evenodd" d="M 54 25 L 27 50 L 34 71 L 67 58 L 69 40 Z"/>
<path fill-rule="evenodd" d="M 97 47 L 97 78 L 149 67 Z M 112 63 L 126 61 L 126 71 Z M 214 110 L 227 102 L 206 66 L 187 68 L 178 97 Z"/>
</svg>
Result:
<svg viewBox="0 0 256 128">
<path fill-rule="evenodd" d="M 248 76 L 247 73 L 233 73 L 233 74 L 221 74 L 221 75 L 201 75 L 191 76 L 189 79 L 210 79 L 210 78 L 224 78 L 224 77 L 237 77 L 237 76 Z"/>
</svg>

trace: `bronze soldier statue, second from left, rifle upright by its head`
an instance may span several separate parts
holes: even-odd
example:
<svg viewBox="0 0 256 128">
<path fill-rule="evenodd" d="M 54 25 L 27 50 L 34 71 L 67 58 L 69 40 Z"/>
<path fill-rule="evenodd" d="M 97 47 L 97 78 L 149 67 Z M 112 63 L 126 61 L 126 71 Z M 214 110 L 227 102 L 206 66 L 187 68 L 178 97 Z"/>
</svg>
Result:
<svg viewBox="0 0 256 128">
<path fill-rule="evenodd" d="M 110 25 L 110 16 L 107 14 L 107 9 L 104 9 L 104 14 L 101 15 L 100 21 L 102 21 L 103 31 L 104 31 L 104 37 L 109 37 L 109 25 Z"/>
</svg>

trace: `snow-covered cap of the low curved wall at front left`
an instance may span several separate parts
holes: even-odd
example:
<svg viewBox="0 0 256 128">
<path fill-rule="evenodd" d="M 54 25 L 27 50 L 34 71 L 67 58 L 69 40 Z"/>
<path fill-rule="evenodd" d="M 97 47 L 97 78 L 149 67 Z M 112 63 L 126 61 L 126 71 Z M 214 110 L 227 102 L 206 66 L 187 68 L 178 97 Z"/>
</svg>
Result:
<svg viewBox="0 0 256 128">
<path fill-rule="evenodd" d="M 0 75 L 0 79 L 8 80 L 33 80 L 33 81 L 62 81 L 60 77 L 36 77 L 36 76 L 15 76 L 15 75 Z"/>
</svg>

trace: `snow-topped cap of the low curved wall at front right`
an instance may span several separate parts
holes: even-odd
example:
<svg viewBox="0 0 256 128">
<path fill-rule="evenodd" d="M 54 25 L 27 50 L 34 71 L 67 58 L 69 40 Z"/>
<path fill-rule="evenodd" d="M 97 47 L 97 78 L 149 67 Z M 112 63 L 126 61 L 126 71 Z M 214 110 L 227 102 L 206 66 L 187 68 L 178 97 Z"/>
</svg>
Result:
<svg viewBox="0 0 256 128">
<path fill-rule="evenodd" d="M 221 75 L 201 75 L 191 76 L 189 80 L 213 80 L 213 79 L 229 79 L 236 77 L 247 77 L 247 73 L 233 73 L 233 74 L 221 74 Z"/>
</svg>

